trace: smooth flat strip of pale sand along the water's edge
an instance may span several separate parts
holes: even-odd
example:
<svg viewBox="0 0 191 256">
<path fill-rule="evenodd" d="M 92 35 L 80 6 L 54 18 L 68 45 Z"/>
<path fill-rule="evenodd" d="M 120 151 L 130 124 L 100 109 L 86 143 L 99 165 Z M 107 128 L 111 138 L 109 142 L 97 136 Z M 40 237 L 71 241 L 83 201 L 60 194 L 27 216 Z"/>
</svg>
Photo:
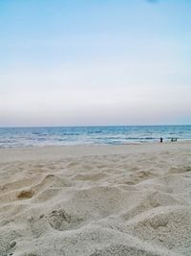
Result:
<svg viewBox="0 0 191 256">
<path fill-rule="evenodd" d="M 148 153 L 153 151 L 179 151 L 190 150 L 191 141 L 184 142 L 163 142 L 163 143 L 141 143 L 141 144 L 123 144 L 123 145 L 69 145 L 69 146 L 32 146 L 17 148 L 0 148 L 0 162 L 3 159 L 11 161 L 16 159 L 40 158 L 65 158 L 65 157 L 83 157 L 91 155 L 108 154 L 128 154 L 128 153 Z"/>
</svg>

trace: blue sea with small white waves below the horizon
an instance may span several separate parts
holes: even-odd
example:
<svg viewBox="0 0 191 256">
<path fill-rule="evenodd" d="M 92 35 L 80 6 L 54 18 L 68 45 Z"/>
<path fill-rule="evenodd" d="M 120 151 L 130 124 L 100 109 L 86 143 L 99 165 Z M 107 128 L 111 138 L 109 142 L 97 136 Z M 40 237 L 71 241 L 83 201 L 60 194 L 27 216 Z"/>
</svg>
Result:
<svg viewBox="0 0 191 256">
<path fill-rule="evenodd" d="M 191 126 L 0 128 L 0 148 L 191 140 Z"/>
</svg>

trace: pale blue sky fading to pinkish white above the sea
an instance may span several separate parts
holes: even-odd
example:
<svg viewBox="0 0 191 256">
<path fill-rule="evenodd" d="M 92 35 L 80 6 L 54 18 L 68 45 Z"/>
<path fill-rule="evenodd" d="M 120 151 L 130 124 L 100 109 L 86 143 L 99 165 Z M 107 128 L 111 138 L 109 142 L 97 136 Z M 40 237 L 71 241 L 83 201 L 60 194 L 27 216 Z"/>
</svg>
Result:
<svg viewBox="0 0 191 256">
<path fill-rule="evenodd" d="M 0 0 L 0 127 L 191 124 L 190 0 Z"/>
</svg>

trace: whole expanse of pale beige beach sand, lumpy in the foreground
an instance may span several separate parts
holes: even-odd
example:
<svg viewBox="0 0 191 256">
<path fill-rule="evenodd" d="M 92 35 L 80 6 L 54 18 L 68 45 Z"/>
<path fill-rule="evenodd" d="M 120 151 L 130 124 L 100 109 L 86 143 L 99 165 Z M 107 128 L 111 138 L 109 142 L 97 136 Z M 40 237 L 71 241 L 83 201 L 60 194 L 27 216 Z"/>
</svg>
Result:
<svg viewBox="0 0 191 256">
<path fill-rule="evenodd" d="M 191 143 L 1 149 L 0 255 L 191 255 Z"/>
</svg>

